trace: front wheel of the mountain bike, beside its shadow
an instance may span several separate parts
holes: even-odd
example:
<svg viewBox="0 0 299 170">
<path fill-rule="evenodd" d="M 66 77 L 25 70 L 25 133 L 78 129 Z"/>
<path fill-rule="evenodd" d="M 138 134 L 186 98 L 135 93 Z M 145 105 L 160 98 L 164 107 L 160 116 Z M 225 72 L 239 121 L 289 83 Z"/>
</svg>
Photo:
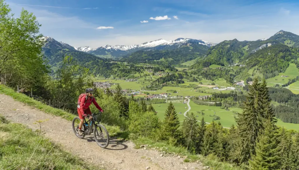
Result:
<svg viewBox="0 0 299 170">
<path fill-rule="evenodd" d="M 94 127 L 94 139 L 101 148 L 109 145 L 109 133 L 103 125 L 96 124 Z"/>
</svg>

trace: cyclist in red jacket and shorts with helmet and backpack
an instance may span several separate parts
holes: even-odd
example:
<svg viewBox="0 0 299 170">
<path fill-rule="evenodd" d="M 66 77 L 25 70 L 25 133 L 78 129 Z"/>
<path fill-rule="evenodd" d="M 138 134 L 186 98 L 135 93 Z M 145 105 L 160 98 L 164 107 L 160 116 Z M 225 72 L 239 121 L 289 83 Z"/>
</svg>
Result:
<svg viewBox="0 0 299 170">
<path fill-rule="evenodd" d="M 97 104 L 94 96 L 92 95 L 93 89 L 88 88 L 85 90 L 85 92 L 86 93 L 81 94 L 78 98 L 77 111 L 78 111 L 79 118 L 81 120 L 79 123 L 79 130 L 78 130 L 79 135 L 83 135 L 83 133 L 81 132 L 81 128 L 84 123 L 83 117 L 87 117 L 87 115 L 89 115 L 89 119 L 92 119 L 91 111 L 89 108 L 89 106 L 91 105 L 91 102 L 94 103 L 94 106 L 96 106 L 97 109 L 100 110 L 100 112 L 103 112 L 103 109 Z"/>
</svg>

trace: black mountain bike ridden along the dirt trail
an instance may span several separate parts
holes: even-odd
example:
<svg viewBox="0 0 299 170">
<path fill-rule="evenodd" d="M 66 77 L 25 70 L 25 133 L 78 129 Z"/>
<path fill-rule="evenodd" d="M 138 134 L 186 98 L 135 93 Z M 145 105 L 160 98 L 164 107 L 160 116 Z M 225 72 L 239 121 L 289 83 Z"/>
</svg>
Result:
<svg viewBox="0 0 299 170">
<path fill-rule="evenodd" d="M 107 129 L 99 123 L 100 120 L 99 121 L 97 120 L 97 118 L 99 118 L 100 115 L 101 115 L 101 113 L 95 113 L 95 114 L 93 113 L 92 119 L 89 119 L 88 121 L 86 121 L 86 119 L 84 118 L 84 123 L 81 128 L 83 135 L 78 134 L 79 123 L 81 121 L 79 117 L 76 117 L 73 119 L 72 125 L 73 125 L 74 133 L 77 137 L 82 139 L 86 135 L 91 135 L 93 133 L 94 139 L 97 142 L 97 144 L 101 148 L 106 148 L 109 145 L 109 133 L 108 133 Z M 87 116 L 87 117 L 89 117 L 89 116 Z"/>
</svg>

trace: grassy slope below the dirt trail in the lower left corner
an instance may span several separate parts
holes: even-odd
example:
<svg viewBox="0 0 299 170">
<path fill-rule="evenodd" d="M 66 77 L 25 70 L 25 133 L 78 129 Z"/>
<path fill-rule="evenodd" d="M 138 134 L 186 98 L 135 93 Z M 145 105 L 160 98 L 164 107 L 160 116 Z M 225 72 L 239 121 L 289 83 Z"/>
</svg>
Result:
<svg viewBox="0 0 299 170">
<path fill-rule="evenodd" d="M 98 169 L 61 146 L 0 115 L 0 169 Z"/>
</svg>

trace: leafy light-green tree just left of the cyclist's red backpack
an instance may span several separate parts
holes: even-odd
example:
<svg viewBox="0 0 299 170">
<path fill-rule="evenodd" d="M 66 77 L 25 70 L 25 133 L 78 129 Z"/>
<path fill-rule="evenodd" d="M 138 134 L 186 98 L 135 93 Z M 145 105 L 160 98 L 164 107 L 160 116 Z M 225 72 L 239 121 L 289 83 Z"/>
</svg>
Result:
<svg viewBox="0 0 299 170">
<path fill-rule="evenodd" d="M 93 85 L 93 79 L 88 69 L 80 67 L 71 56 L 66 56 L 62 67 L 48 81 L 51 105 L 76 113 L 78 96 Z"/>
</svg>

